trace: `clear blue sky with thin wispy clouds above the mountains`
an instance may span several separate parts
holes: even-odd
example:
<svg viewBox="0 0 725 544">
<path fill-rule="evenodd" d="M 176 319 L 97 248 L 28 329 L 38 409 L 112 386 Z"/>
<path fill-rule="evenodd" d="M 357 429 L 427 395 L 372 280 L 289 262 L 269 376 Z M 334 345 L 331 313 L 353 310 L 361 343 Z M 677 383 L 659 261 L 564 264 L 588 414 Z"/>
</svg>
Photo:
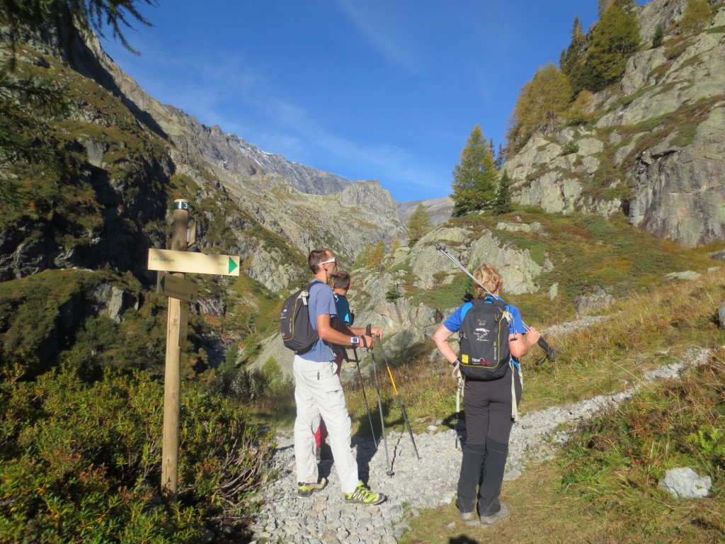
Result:
<svg viewBox="0 0 725 544">
<path fill-rule="evenodd" d="M 642 2 L 638 2 L 642 4 Z M 164 104 L 398 202 L 445 197 L 474 125 L 498 147 L 521 87 L 597 0 L 159 0 L 104 50 Z"/>
</svg>

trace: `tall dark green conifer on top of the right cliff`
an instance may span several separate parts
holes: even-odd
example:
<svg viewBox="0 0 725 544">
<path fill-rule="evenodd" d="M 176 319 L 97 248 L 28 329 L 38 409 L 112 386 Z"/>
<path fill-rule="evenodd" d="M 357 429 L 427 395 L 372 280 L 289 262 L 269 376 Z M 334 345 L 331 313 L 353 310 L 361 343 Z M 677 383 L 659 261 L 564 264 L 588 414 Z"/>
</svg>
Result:
<svg viewBox="0 0 725 544">
<path fill-rule="evenodd" d="M 626 62 L 639 48 L 639 25 L 632 0 L 612 1 L 592 31 L 584 59 L 571 67 L 573 91 L 600 91 L 624 74 Z"/>
</svg>

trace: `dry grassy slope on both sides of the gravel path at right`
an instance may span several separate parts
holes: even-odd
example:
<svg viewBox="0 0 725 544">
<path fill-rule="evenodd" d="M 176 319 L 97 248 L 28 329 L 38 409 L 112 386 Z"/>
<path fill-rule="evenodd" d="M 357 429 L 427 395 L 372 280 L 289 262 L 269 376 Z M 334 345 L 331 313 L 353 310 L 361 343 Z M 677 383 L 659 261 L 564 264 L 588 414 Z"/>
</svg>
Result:
<svg viewBox="0 0 725 544">
<path fill-rule="evenodd" d="M 713 360 L 679 381 L 647 385 L 582 429 L 555 461 L 505 482 L 512 517 L 495 528 L 468 527 L 450 505 L 410 519 L 402 542 L 725 542 L 725 445 L 706 430 L 725 431 L 725 333 L 716 323 L 724 300 L 725 273 L 717 272 L 619 302 L 596 326 L 552 338 L 555 363 L 526 360 L 525 411 L 623 390 L 692 347 L 712 350 Z M 710 474 L 712 496 L 674 500 L 658 490 L 673 466 Z"/>
</svg>

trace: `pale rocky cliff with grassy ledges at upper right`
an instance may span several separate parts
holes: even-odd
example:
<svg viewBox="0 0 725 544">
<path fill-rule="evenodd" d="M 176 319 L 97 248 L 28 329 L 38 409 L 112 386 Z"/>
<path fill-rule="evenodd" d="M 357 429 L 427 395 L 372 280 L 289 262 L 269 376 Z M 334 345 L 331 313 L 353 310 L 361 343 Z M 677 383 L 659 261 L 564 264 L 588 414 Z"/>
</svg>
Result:
<svg viewBox="0 0 725 544">
<path fill-rule="evenodd" d="M 592 125 L 537 133 L 505 169 L 515 201 L 550 213 L 624 213 L 660 238 L 695 247 L 725 236 L 725 7 L 679 35 L 686 0 L 638 8 L 643 49 L 616 91 L 596 95 Z"/>
</svg>

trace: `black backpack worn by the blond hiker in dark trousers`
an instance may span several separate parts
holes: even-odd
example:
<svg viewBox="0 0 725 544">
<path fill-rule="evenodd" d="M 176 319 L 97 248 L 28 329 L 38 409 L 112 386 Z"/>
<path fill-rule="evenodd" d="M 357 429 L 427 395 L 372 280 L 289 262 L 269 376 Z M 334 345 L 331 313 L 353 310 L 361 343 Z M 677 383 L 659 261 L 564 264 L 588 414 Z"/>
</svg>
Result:
<svg viewBox="0 0 725 544">
<path fill-rule="evenodd" d="M 460 372 L 469 379 L 500 379 L 508 371 L 511 314 L 492 297 L 473 300 L 458 331 Z"/>
</svg>

